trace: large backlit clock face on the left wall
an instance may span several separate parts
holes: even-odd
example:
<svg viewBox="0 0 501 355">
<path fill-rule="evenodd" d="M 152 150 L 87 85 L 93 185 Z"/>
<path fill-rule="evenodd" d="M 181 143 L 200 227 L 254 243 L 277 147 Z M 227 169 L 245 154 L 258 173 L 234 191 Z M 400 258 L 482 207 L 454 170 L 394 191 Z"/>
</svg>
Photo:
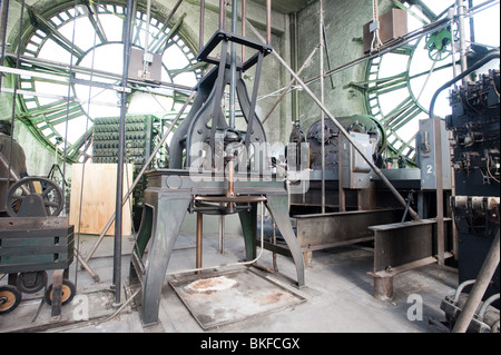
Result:
<svg viewBox="0 0 501 355">
<path fill-rule="evenodd" d="M 21 55 L 28 59 L 21 60 L 20 69 L 33 73 L 20 77 L 18 117 L 42 144 L 79 161 L 91 151 L 94 119 L 120 115 L 120 95 L 114 87 L 121 82 L 125 6 L 81 1 L 45 9 L 27 6 L 26 11 L 30 21 Z M 145 51 L 147 46 L 160 58 L 161 81 L 194 87 L 205 70 L 196 60 L 198 49 L 181 33 L 183 18 L 165 23 L 163 16 L 153 13 L 147 23 L 147 14 L 137 11 L 132 48 Z M 169 120 L 169 112 L 187 99 L 185 92 L 161 86 L 138 83 L 131 89 L 130 115 L 158 114 Z"/>
</svg>

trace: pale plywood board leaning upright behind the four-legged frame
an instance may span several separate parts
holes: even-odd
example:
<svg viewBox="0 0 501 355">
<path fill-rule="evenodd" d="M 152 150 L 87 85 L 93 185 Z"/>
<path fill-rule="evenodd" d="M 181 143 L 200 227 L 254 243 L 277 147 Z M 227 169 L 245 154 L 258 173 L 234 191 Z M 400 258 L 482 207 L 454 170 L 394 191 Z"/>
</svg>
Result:
<svg viewBox="0 0 501 355">
<path fill-rule="evenodd" d="M 132 180 L 132 165 L 124 166 L 124 196 Z M 84 186 L 82 186 L 84 176 Z M 84 189 L 82 189 L 84 187 Z M 100 235 L 110 217 L 115 214 L 117 194 L 116 164 L 73 164 L 71 168 L 71 196 L 69 223 L 75 225 L 75 231 L 89 235 Z M 82 195 L 82 197 L 80 197 Z M 81 203 L 81 218 L 80 218 Z M 122 234 L 132 230 L 131 197 L 124 205 Z M 80 230 L 78 224 L 80 220 Z M 115 223 L 106 235 L 115 235 Z"/>
</svg>

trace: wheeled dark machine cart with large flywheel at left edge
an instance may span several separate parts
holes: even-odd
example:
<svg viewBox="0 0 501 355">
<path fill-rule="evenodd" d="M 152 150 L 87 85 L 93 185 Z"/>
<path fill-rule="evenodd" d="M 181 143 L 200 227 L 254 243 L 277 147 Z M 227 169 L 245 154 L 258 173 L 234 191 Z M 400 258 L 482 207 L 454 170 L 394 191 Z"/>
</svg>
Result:
<svg viewBox="0 0 501 355">
<path fill-rule="evenodd" d="M 0 162 L 6 162 L 0 156 Z M 9 217 L 0 218 L 0 274 L 8 284 L 0 286 L 0 315 L 12 312 L 22 294 L 36 294 L 45 288 L 45 299 L 57 321 L 61 306 L 71 302 L 75 285 L 68 279 L 73 259 L 73 226 L 62 210 L 62 190 L 52 180 L 39 177 L 17 180 L 7 191 Z M 52 284 L 48 284 L 48 270 Z"/>
</svg>

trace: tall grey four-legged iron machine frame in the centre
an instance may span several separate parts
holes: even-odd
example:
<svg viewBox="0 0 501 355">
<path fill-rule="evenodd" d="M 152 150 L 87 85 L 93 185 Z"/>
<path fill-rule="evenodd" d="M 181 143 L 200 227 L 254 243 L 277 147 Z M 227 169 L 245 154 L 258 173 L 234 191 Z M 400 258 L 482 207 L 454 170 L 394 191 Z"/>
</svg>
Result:
<svg viewBox="0 0 501 355">
<path fill-rule="evenodd" d="M 288 216 L 285 181 L 272 175 L 266 135 L 255 112 L 263 60 L 272 47 L 248 40 L 236 31 L 225 31 L 223 2 L 220 12 L 219 30 L 198 56 L 198 60 L 215 67 L 196 87 L 190 114 L 175 131 L 169 147 L 169 169 L 147 172 L 143 221 L 130 267 L 130 282 L 141 285 L 145 325 L 158 322 L 164 278 L 187 213 L 197 214 L 196 270 L 200 272 L 203 215 L 238 214 L 246 260 L 252 263 L 257 247 L 257 205 L 265 204 L 294 258 L 297 285 L 305 284 L 304 263 Z M 236 19 L 235 12 L 234 22 Z M 209 57 L 219 45 L 220 56 Z M 243 61 L 235 52 L 228 53 L 232 45 L 240 45 L 255 55 Z M 243 73 L 254 67 L 255 82 L 249 97 Z M 238 98 L 245 128 L 238 129 L 232 117 L 230 122 L 226 120 L 222 99 L 228 86 Z"/>
</svg>

